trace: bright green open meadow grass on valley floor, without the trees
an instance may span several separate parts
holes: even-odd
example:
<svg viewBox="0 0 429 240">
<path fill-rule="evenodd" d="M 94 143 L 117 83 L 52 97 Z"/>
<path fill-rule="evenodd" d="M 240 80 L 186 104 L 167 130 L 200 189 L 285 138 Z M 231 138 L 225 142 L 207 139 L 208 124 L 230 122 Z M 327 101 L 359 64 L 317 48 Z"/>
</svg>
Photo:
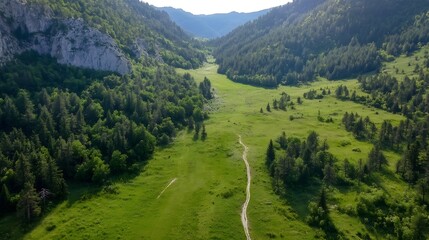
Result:
<svg viewBox="0 0 429 240">
<path fill-rule="evenodd" d="M 400 64 L 402 61 L 405 60 L 398 60 Z M 389 63 L 386 71 L 399 63 Z M 407 67 L 404 66 L 406 71 Z M 305 223 L 305 217 L 308 201 L 318 189 L 290 190 L 286 199 L 274 194 L 264 164 L 269 140 L 282 131 L 288 136 L 304 138 L 315 130 L 320 139 L 328 140 L 330 152 L 341 160 L 347 157 L 356 163 L 360 158 L 367 158 L 372 145 L 355 140 L 344 130 L 341 124 L 344 112 L 369 116 L 378 127 L 383 120 L 396 124 L 402 117 L 339 101 L 334 96 L 304 100 L 296 110 L 268 113 L 265 106 L 282 92 L 296 102 L 297 97 L 310 89 L 329 87 L 335 92 L 340 84 L 357 89 L 357 81 L 321 79 L 299 88 L 264 89 L 233 83 L 216 70 L 215 64 L 208 63 L 189 71 L 196 81 L 209 78 L 216 92 L 216 99 L 208 106 L 211 113 L 206 122 L 208 138 L 205 141 L 194 141 L 192 133 L 181 132 L 174 145 L 156 151 L 140 175 L 115 182 L 117 194 L 72 186 L 70 199 L 59 204 L 23 236 L 16 230 L 18 225 L 13 225 L 13 217 L 0 221 L 0 239 L 1 236 L 8 239 L 244 239 L 240 210 L 245 199 L 246 173 L 238 134 L 249 147 L 252 169 L 248 213 L 252 238 L 313 239 L 317 230 Z M 264 113 L 259 112 L 260 108 Z M 319 122 L 319 111 L 323 117 L 332 117 L 334 123 Z M 302 118 L 291 121 L 290 115 Z M 348 144 L 344 146 L 345 142 Z M 353 151 L 354 148 L 361 152 Z M 400 156 L 386 154 L 393 170 Z M 380 185 L 400 198 L 407 185 L 394 174 L 389 176 L 380 177 Z M 174 178 L 177 180 L 157 198 Z M 332 194 L 338 207 L 353 207 L 361 191 L 365 189 L 339 189 Z M 331 215 L 337 228 L 349 239 L 357 238 L 357 232 L 368 232 L 357 218 L 342 214 L 336 208 Z M 9 235 L 1 234 L 7 232 Z"/>
</svg>

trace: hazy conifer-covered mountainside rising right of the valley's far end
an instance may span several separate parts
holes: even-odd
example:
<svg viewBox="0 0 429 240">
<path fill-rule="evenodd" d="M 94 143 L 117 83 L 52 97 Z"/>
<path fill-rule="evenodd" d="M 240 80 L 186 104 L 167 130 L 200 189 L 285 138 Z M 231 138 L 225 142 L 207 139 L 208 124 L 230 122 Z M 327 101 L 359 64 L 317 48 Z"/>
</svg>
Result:
<svg viewBox="0 0 429 240">
<path fill-rule="evenodd" d="M 383 11 L 380 12 L 380 9 Z M 261 86 L 376 71 L 427 42 L 429 2 L 296 0 L 216 40 L 219 72 Z"/>
</svg>

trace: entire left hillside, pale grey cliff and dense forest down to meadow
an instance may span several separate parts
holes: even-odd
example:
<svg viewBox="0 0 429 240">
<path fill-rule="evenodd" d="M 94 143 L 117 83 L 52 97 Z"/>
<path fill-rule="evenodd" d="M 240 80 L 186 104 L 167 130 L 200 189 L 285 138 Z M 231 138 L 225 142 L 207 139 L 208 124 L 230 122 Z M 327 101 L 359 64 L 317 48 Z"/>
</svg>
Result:
<svg viewBox="0 0 429 240">
<path fill-rule="evenodd" d="M 174 69 L 202 64 L 194 44 L 139 1 L 1 1 L 0 216 L 31 224 L 70 183 L 131 176 L 203 133 L 210 88 Z"/>
</svg>

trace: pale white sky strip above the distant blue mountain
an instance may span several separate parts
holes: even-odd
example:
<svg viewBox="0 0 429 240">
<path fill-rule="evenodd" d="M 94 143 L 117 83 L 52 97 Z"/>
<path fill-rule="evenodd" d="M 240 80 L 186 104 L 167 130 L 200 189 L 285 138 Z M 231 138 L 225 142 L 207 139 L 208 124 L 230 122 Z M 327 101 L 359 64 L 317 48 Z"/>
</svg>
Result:
<svg viewBox="0 0 429 240">
<path fill-rule="evenodd" d="M 181 8 L 193 14 L 254 12 L 284 5 L 292 0 L 142 0 L 156 7 Z"/>
</svg>

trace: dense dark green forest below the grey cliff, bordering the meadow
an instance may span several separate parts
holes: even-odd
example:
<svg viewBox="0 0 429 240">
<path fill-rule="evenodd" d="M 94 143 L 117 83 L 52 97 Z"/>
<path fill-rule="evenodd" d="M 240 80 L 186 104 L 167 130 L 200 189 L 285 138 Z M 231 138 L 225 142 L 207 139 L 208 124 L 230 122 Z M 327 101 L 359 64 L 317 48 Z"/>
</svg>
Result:
<svg viewBox="0 0 429 240">
<path fill-rule="evenodd" d="M 66 180 L 103 183 L 138 171 L 156 145 L 171 143 L 185 127 L 202 127 L 206 135 L 203 97 L 189 74 L 161 65 L 120 77 L 60 66 L 49 57 L 24 58 L 0 74 L 2 86 L 16 83 L 0 88 L 2 215 L 17 208 L 32 219 L 42 200 L 67 194 Z M 15 81 L 17 66 L 28 72 L 28 82 Z M 62 87 L 75 81 L 76 91 Z"/>
</svg>

